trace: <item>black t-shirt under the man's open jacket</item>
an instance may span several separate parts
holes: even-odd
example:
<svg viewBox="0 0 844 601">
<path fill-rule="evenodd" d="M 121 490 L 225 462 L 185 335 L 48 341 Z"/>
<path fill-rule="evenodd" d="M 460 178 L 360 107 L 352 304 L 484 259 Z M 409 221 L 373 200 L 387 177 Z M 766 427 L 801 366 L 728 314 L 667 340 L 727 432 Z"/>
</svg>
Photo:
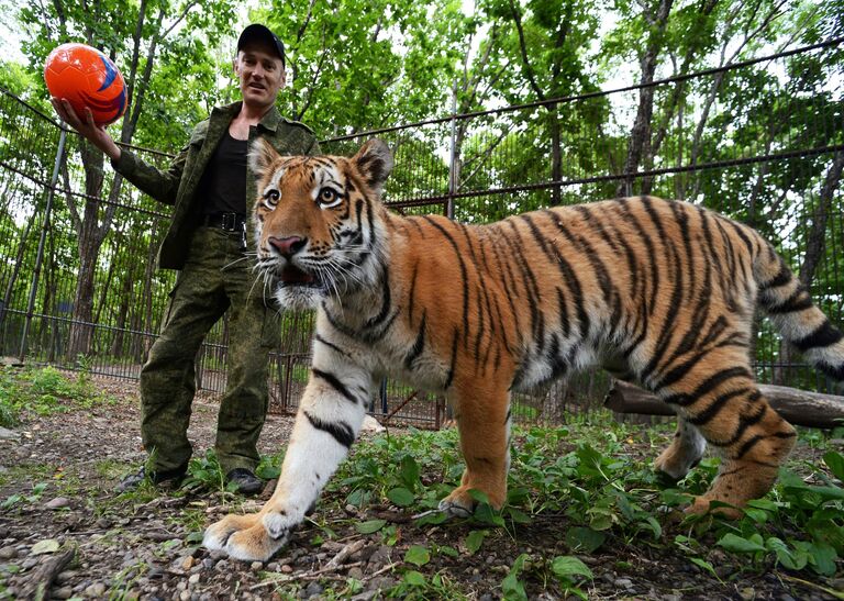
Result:
<svg viewBox="0 0 844 601">
<path fill-rule="evenodd" d="M 247 144 L 246 140 L 235 140 L 225 131 L 199 183 L 200 214 L 246 214 Z"/>
</svg>

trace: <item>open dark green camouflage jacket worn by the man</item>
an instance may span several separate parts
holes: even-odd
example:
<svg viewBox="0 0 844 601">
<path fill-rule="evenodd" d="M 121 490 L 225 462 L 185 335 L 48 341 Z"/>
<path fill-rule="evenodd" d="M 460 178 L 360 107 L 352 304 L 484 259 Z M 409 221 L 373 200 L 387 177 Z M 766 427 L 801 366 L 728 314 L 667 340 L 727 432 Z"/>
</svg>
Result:
<svg viewBox="0 0 844 601">
<path fill-rule="evenodd" d="M 191 234 L 198 225 L 199 211 L 196 210 L 196 203 L 201 202 L 201 199 L 196 197 L 200 179 L 216 145 L 240 110 L 241 102 L 214 108 L 211 115 L 193 129 L 190 141 L 166 170 L 149 165 L 125 148 L 121 149 L 118 160 L 111 162 L 112 167 L 142 192 L 174 205 L 170 227 L 158 251 L 158 267 L 181 269 L 185 266 Z M 258 136 L 268 140 L 282 155 L 320 153 L 313 132 L 302 123 L 282 118 L 275 107 L 264 115 L 260 123 L 249 127 L 249 142 Z M 247 167 L 247 212 L 256 193 L 256 176 Z M 249 245 L 253 244 L 251 232 L 247 232 L 246 240 Z"/>
</svg>

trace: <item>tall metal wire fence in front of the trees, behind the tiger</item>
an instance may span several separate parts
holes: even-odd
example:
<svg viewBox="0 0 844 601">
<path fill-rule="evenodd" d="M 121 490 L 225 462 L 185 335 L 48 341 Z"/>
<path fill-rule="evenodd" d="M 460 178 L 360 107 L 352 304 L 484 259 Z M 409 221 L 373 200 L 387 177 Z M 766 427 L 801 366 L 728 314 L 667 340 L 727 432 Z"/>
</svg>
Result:
<svg viewBox="0 0 844 601">
<path fill-rule="evenodd" d="M 387 141 L 396 168 L 385 198 L 404 214 L 438 212 L 485 223 L 555 203 L 641 192 L 704 204 L 775 242 L 820 307 L 842 323 L 844 102 L 842 70 L 829 63 L 840 44 L 654 82 L 658 110 L 643 159 L 630 172 L 624 165 L 638 86 L 454 114 L 321 145 L 330 154 L 351 154 L 373 135 Z M 795 69 L 807 62 L 834 75 L 821 93 L 793 85 Z M 742 86 L 764 93 L 737 102 Z M 135 151 L 154 164 L 169 159 Z M 115 177 L 77 135 L 0 94 L 0 353 L 137 378 L 175 277 L 154 267 L 167 219 L 160 204 Z M 80 261 L 82 255 L 96 258 Z M 87 297 L 90 303 L 79 302 Z M 226 324 L 224 319 L 213 329 L 197 357 L 200 389 L 221 392 L 225 386 Z M 282 344 L 271 355 L 276 411 L 298 404 L 312 327 L 312 315 L 282 315 Z M 829 388 L 766 322 L 758 325 L 755 353 L 760 381 Z M 599 402 L 607 386 L 600 372 L 586 374 L 520 396 L 514 415 L 559 422 L 567 410 Z M 398 382 L 385 382 L 371 410 L 427 427 L 438 427 L 445 415 L 442 399 Z"/>
</svg>

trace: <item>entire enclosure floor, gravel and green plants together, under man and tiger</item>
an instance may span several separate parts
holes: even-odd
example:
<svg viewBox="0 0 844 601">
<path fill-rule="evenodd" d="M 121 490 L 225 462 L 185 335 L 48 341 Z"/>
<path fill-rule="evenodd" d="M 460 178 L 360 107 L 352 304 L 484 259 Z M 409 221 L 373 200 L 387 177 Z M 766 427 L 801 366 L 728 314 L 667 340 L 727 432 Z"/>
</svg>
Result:
<svg viewBox="0 0 844 601">
<path fill-rule="evenodd" d="M 226 512 L 254 509 L 259 500 L 215 485 L 213 458 L 202 455 L 213 443 L 213 401 L 200 398 L 195 404 L 189 436 L 200 460 L 195 461 L 186 489 L 145 487 L 118 496 L 120 477 L 144 459 L 135 385 L 92 380 L 86 386 L 96 389 L 96 402 L 67 401 L 62 403 L 67 411 L 42 411 L 44 415 L 23 410 L 12 433 L 0 439 L 0 599 L 29 590 L 33 575 L 68 548 L 75 548 L 73 563 L 57 575 L 47 598 L 576 594 L 787 601 L 842 598 L 844 590 L 841 559 L 833 557 L 832 572 L 828 569 L 823 576 L 809 567 L 788 570 L 773 552 L 742 554 L 735 544 L 723 543 L 730 539 L 724 538 L 724 528 L 733 528 L 745 538 L 730 541 L 751 545 L 747 528 L 720 522 L 689 524 L 678 521 L 670 508 L 647 509 L 648 500 L 656 507 L 657 498 L 667 498 L 670 489 L 652 487 L 651 476 L 635 466 L 667 443 L 667 427 L 584 426 L 582 436 L 596 437 L 590 446 L 573 442 L 581 436 L 576 431 L 580 422 L 562 433 L 519 430 L 513 509 L 444 524 L 435 514 L 411 516 L 433 507 L 445 490 L 437 485 L 441 478 L 459 477 L 455 435 L 396 430 L 366 434 L 287 548 L 266 564 L 233 561 L 199 545 L 202 528 Z M 260 450 L 273 458 L 262 464 L 265 475 L 277 468 L 291 423 L 288 416 L 268 419 Z M 835 444 L 824 438 L 819 445 L 817 436 L 801 439 L 796 465 L 823 464 L 821 455 Z M 558 457 L 542 463 L 551 447 Z M 626 463 L 613 459 L 620 449 Z M 591 466 L 590 471 L 578 467 L 585 465 Z M 620 486 L 612 475 L 630 466 L 635 469 L 623 471 L 624 482 L 638 483 Z M 607 486 L 589 488 L 589 482 L 600 481 Z M 649 492 L 636 497 L 645 489 Z M 834 511 L 840 507 L 833 505 Z M 814 515 L 823 519 L 821 513 Z M 841 525 L 841 513 L 832 514 L 830 525 L 833 522 Z M 774 548 L 771 537 L 800 537 L 786 519 L 762 523 L 767 533 L 763 547 L 768 550 Z M 771 532 L 778 536 L 769 536 Z"/>
</svg>

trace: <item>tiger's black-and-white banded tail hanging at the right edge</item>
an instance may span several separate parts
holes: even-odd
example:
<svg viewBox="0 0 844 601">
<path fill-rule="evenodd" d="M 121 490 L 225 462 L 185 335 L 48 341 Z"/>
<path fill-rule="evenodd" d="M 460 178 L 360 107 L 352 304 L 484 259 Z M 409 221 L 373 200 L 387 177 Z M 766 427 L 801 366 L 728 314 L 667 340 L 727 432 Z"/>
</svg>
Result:
<svg viewBox="0 0 844 601">
<path fill-rule="evenodd" d="M 782 336 L 818 370 L 844 381 L 844 334 L 814 305 L 806 286 L 767 242 L 756 257 L 758 301 Z"/>
</svg>

